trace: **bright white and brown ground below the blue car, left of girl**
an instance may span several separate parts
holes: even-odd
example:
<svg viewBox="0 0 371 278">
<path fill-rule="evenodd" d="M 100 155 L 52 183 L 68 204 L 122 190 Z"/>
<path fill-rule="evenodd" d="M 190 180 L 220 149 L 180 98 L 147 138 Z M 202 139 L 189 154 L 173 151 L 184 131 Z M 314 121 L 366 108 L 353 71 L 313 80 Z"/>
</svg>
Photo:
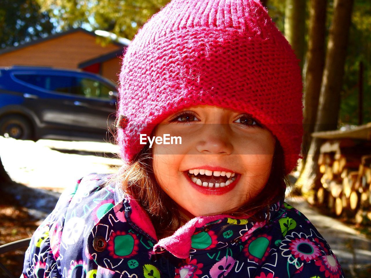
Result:
<svg viewBox="0 0 371 278">
<path fill-rule="evenodd" d="M 23 141 L 0 136 L 0 156 L 14 181 L 0 181 L 0 245 L 29 238 L 55 207 L 60 193 L 88 173 L 109 173 L 122 165 L 116 146 L 100 142 Z M 52 182 L 51 182 L 52 181 Z M 0 255 L 19 277 L 27 248 Z M 0 268 L 0 278 L 8 277 Z"/>
</svg>

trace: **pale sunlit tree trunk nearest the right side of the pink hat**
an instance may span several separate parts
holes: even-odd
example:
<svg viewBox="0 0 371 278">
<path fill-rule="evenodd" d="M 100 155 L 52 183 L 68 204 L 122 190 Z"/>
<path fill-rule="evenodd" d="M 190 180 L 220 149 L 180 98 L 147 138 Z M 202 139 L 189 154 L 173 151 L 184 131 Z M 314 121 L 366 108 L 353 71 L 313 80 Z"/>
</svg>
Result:
<svg viewBox="0 0 371 278">
<path fill-rule="evenodd" d="M 306 0 L 286 0 L 285 36 L 303 69 Z"/>
</svg>

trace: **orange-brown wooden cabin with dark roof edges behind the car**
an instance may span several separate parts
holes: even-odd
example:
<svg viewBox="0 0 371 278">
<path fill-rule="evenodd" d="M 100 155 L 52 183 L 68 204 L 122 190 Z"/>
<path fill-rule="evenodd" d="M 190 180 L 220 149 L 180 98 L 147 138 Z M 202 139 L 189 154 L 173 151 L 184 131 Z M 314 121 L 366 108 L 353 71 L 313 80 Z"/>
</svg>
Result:
<svg viewBox="0 0 371 278">
<path fill-rule="evenodd" d="M 128 44 L 102 46 L 95 33 L 78 28 L 0 50 L 0 67 L 48 66 L 98 73 L 117 82 L 120 63 Z"/>
</svg>

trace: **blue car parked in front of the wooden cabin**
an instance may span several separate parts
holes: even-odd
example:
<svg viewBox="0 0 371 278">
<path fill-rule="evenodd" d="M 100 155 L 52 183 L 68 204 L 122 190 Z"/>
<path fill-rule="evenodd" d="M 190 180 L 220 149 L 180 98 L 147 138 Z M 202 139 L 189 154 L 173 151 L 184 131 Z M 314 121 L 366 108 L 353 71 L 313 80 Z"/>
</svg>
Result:
<svg viewBox="0 0 371 278">
<path fill-rule="evenodd" d="M 0 67 L 0 135 L 16 139 L 110 140 L 115 84 L 51 67 Z"/>
</svg>

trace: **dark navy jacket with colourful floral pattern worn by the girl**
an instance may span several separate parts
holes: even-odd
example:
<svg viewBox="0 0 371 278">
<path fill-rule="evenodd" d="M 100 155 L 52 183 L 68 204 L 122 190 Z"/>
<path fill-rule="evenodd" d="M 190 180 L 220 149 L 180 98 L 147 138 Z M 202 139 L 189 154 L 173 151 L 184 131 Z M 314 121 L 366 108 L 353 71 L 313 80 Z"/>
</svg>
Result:
<svg viewBox="0 0 371 278">
<path fill-rule="evenodd" d="M 32 237 L 23 277 L 344 277 L 316 228 L 283 201 L 263 222 L 200 216 L 158 241 L 144 209 L 105 185 L 109 177 L 88 175 L 61 195 Z"/>
</svg>

